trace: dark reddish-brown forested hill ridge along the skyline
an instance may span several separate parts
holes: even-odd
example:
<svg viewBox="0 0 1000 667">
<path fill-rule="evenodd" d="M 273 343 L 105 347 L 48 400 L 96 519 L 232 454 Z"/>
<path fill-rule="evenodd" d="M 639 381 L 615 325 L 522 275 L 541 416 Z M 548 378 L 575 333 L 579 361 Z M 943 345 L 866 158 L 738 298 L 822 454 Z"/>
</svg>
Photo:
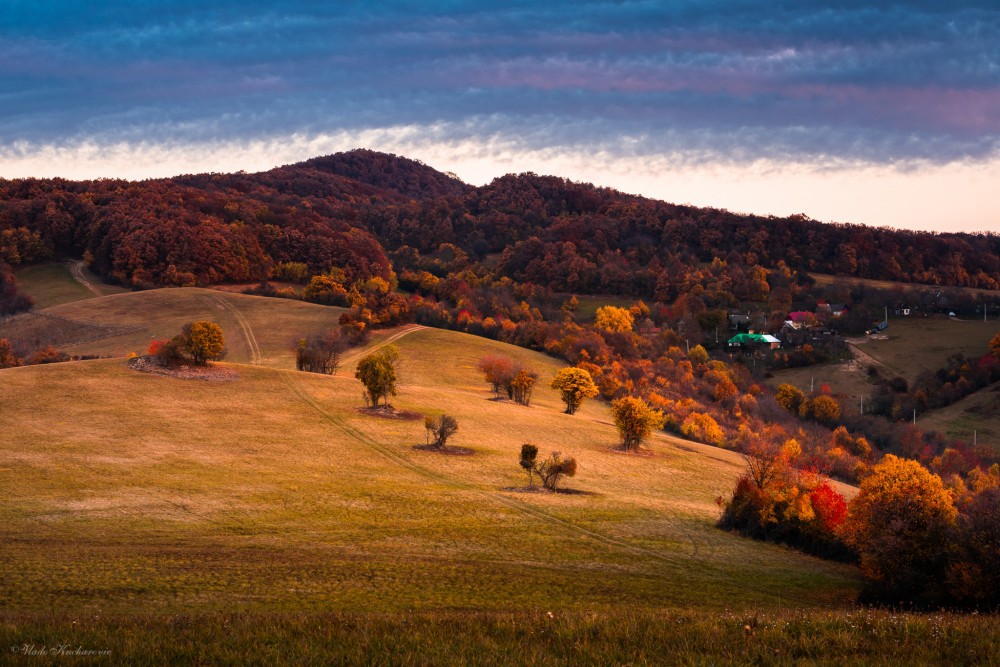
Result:
<svg viewBox="0 0 1000 667">
<path fill-rule="evenodd" d="M 662 302 L 695 284 L 752 291 L 774 269 L 1000 288 L 997 234 L 736 214 L 535 174 L 475 188 L 368 150 L 257 174 L 0 180 L 0 259 L 86 257 L 124 284 L 256 281 L 283 262 L 389 277 L 390 254 L 422 266 L 442 244 L 457 246 L 448 252 L 460 250 L 464 268 Z M 716 259 L 725 271 L 706 268 Z"/>
</svg>

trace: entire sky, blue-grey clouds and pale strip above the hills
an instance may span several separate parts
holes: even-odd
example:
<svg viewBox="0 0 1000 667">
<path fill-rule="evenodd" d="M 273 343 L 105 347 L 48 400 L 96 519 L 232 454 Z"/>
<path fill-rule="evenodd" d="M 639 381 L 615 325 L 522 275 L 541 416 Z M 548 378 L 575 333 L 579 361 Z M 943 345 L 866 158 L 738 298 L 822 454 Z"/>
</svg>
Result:
<svg viewBox="0 0 1000 667">
<path fill-rule="evenodd" d="M 502 6 L 501 6 L 502 5 Z M 0 177 L 351 148 L 1000 232 L 1000 2 L 3 0 Z"/>
</svg>

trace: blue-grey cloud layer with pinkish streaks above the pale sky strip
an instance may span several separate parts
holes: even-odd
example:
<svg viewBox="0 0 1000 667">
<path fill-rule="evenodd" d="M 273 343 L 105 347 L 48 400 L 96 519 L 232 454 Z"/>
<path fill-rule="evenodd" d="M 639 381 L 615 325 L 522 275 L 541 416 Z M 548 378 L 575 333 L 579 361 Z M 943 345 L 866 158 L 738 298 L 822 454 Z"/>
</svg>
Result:
<svg viewBox="0 0 1000 667">
<path fill-rule="evenodd" d="M 991 2 L 25 2 L 3 146 L 446 123 L 456 139 L 897 163 L 1000 146 Z"/>
</svg>

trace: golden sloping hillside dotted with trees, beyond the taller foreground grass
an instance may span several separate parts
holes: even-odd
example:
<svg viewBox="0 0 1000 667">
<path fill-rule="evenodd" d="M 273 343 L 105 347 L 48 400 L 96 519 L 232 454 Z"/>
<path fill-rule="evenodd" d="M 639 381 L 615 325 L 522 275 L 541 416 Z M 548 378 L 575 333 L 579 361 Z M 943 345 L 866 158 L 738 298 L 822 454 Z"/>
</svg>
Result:
<svg viewBox="0 0 1000 667">
<path fill-rule="evenodd" d="M 93 300 L 90 315 L 127 317 L 135 297 L 228 313 L 265 341 L 269 365 L 289 365 L 271 341 L 296 325 L 258 317 L 252 298 L 120 295 Z M 473 455 L 414 449 L 422 420 L 357 412 L 348 368 L 325 377 L 235 364 L 240 379 L 220 383 L 122 360 L 3 371 L 0 475 L 18 492 L 0 509 L 11 545 L 0 599 L 22 611 L 58 601 L 168 613 L 816 607 L 853 596 L 851 567 L 713 527 L 737 456 L 666 437 L 645 455 L 618 453 L 603 406 L 568 416 L 545 387 L 530 408 L 496 402 L 474 369 L 503 352 L 545 380 L 555 361 L 452 332 L 395 340 L 394 403 L 453 414 L 455 443 Z M 519 490 L 526 441 L 578 459 L 566 484 L 577 493 Z"/>
</svg>

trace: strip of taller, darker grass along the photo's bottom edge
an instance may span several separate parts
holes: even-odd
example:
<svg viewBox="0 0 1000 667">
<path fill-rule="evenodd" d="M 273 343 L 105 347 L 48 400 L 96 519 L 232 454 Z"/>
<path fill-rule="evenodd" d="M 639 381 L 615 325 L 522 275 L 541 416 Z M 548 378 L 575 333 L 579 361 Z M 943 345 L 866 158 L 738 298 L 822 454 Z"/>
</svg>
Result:
<svg viewBox="0 0 1000 667">
<path fill-rule="evenodd" d="M 881 611 L 0 613 L 11 664 L 1000 664 L 996 618 Z M 8 648 L 10 647 L 10 648 Z M 74 659 L 62 651 L 97 652 Z M 39 655 L 51 651 L 55 655 Z M 34 656 L 25 653 L 34 653 Z M 100 653 L 103 652 L 103 655 Z"/>
</svg>

